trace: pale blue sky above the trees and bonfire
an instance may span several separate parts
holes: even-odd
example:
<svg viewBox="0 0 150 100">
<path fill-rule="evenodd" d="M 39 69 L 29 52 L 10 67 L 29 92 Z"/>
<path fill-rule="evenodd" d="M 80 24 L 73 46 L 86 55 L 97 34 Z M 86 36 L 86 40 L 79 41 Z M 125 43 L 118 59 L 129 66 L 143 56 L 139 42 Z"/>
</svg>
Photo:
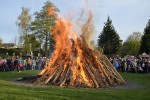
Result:
<svg viewBox="0 0 150 100">
<path fill-rule="evenodd" d="M 29 8 L 30 14 L 40 11 L 47 0 L 0 0 L 0 38 L 3 43 L 14 42 L 18 37 L 17 17 L 21 14 L 21 7 Z M 94 13 L 94 41 L 103 30 L 107 17 L 125 41 L 133 32 L 143 33 L 150 19 L 150 0 L 50 0 L 63 15 L 79 15 L 84 2 Z"/>
</svg>

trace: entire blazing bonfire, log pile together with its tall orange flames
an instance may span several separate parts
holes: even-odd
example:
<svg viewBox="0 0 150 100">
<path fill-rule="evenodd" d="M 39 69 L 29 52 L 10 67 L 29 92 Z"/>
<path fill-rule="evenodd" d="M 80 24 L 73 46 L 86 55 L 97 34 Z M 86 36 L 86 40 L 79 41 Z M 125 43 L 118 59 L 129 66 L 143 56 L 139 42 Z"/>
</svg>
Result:
<svg viewBox="0 0 150 100">
<path fill-rule="evenodd" d="M 55 51 L 39 74 L 41 77 L 34 81 L 36 84 L 96 88 L 125 84 L 107 57 L 90 48 L 91 19 L 92 14 L 80 37 L 70 21 L 57 19 L 51 31 L 56 40 Z"/>
</svg>

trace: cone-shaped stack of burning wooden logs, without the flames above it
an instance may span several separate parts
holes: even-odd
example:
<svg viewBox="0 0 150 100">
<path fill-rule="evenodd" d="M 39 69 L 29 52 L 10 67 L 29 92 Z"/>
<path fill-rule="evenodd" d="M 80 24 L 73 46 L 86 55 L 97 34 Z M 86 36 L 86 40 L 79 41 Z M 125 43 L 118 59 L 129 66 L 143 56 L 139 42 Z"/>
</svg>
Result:
<svg viewBox="0 0 150 100">
<path fill-rule="evenodd" d="M 70 40 L 72 46 L 62 50 L 55 60 L 50 58 L 35 84 L 101 88 L 124 85 L 125 81 L 109 59 L 88 48 L 84 38 Z M 53 63 L 51 63 L 53 60 Z"/>
</svg>

